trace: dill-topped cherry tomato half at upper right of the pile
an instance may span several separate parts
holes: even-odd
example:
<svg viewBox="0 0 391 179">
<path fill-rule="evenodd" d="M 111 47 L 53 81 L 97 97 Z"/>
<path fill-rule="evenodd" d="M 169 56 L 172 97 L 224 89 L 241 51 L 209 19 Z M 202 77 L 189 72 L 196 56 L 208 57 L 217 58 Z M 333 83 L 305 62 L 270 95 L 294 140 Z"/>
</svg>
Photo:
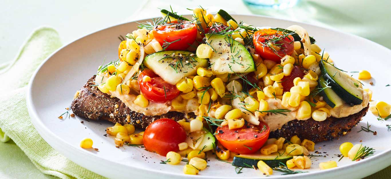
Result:
<svg viewBox="0 0 391 179">
<path fill-rule="evenodd" d="M 280 62 L 280 59 L 285 55 L 291 55 L 293 53 L 293 37 L 286 35 L 281 31 L 273 29 L 262 29 L 254 33 L 253 38 L 256 52 L 267 60 L 273 60 Z M 281 47 L 280 50 L 270 48 L 267 43 L 273 43 Z"/>
</svg>

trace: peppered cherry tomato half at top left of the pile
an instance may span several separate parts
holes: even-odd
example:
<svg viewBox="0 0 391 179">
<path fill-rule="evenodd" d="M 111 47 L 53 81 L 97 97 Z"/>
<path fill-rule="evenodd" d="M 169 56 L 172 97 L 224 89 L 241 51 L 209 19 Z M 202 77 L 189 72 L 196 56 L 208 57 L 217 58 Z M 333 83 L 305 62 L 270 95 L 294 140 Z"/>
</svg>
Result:
<svg viewBox="0 0 391 179">
<path fill-rule="evenodd" d="M 194 43 L 197 37 L 197 28 L 190 21 L 174 21 L 155 27 L 153 36 L 163 48 L 165 48 L 165 44 L 176 41 L 169 44 L 165 50 L 186 50 Z"/>
</svg>

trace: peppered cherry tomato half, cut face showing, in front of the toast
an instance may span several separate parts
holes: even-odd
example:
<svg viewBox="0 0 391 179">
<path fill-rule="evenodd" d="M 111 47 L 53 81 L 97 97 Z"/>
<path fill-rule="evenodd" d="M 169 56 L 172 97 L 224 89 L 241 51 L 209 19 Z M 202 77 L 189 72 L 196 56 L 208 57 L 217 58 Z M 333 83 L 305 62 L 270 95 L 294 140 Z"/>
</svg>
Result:
<svg viewBox="0 0 391 179">
<path fill-rule="evenodd" d="M 252 154 L 258 151 L 269 137 L 270 129 L 265 122 L 259 125 L 247 124 L 239 129 L 229 129 L 228 125 L 217 127 L 217 140 L 230 151 L 239 154 Z"/>
</svg>

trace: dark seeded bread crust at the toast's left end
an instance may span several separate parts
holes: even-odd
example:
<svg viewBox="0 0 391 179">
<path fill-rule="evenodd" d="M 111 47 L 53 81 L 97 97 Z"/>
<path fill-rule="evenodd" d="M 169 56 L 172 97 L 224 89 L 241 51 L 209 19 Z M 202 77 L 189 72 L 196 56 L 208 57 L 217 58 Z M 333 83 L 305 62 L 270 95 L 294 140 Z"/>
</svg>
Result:
<svg viewBox="0 0 391 179">
<path fill-rule="evenodd" d="M 110 98 L 110 95 L 102 93 L 96 86 L 91 86 L 95 85 L 94 80 L 95 75 L 84 84 L 78 97 L 72 101 L 71 109 L 75 115 L 91 120 L 108 120 L 122 125 L 133 124 L 136 128 L 143 129 L 160 118 L 172 118 L 176 121 L 195 118 L 194 113 L 185 115 L 175 111 L 161 116 L 145 116 L 136 113 L 130 110 L 120 99 Z M 115 109 L 115 104 L 118 104 L 118 109 Z"/>
</svg>

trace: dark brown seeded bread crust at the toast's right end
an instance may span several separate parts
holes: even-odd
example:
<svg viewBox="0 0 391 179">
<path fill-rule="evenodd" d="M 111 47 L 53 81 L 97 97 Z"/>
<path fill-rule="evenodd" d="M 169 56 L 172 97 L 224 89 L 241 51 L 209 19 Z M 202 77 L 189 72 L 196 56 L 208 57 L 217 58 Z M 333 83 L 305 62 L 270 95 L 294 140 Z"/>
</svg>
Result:
<svg viewBox="0 0 391 179">
<path fill-rule="evenodd" d="M 283 137 L 290 139 L 297 135 L 300 139 L 308 139 L 315 143 L 333 140 L 343 135 L 343 132 L 350 132 L 361 121 L 368 111 L 369 106 L 360 112 L 344 118 L 329 117 L 324 121 L 292 120 L 283 125 L 281 129 L 270 132 L 269 138 Z"/>
</svg>

